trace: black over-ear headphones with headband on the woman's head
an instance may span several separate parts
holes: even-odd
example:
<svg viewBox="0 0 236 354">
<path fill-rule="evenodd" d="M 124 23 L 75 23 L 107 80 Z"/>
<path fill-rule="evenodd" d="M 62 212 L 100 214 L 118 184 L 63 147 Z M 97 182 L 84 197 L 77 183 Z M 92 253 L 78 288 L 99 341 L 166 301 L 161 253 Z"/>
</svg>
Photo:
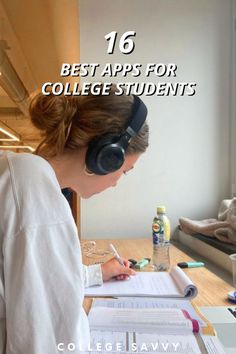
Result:
<svg viewBox="0 0 236 354">
<path fill-rule="evenodd" d="M 124 133 L 100 135 L 89 143 L 85 158 L 89 172 L 106 175 L 123 165 L 129 142 L 138 134 L 147 117 L 147 107 L 143 101 L 138 96 L 133 97 L 133 109 Z"/>
</svg>

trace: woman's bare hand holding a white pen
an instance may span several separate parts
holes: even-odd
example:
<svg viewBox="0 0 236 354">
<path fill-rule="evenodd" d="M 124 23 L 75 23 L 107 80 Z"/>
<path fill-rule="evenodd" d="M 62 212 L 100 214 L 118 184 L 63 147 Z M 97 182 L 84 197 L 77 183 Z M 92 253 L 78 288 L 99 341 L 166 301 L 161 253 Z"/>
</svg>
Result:
<svg viewBox="0 0 236 354">
<path fill-rule="evenodd" d="M 129 261 L 121 258 L 124 262 L 124 267 L 120 265 L 116 258 L 111 258 L 109 261 L 103 263 L 102 267 L 102 278 L 104 281 L 116 278 L 117 280 L 127 280 L 131 275 L 135 275 L 136 272 L 129 268 Z"/>
</svg>

